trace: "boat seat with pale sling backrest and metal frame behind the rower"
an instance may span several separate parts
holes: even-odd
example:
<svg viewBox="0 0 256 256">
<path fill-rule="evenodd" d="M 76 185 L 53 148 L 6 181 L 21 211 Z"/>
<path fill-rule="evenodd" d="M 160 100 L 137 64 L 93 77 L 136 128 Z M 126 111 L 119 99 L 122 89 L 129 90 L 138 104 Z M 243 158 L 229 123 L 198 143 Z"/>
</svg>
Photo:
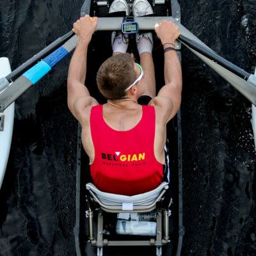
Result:
<svg viewBox="0 0 256 256">
<path fill-rule="evenodd" d="M 156 246 L 156 255 L 161 256 L 162 246 L 168 243 L 169 237 L 168 226 L 170 211 L 168 207 L 163 207 L 163 204 L 161 204 L 168 188 L 168 182 L 163 182 L 156 189 L 148 191 L 147 193 L 124 196 L 105 193 L 97 189 L 92 183 L 86 184 L 89 203 L 89 208 L 86 212 L 86 217 L 89 218 L 89 239 L 93 246 L 97 246 L 97 255 L 102 256 L 103 246 Z M 170 198 L 170 202 L 172 202 L 172 198 Z M 92 205 L 94 206 L 92 207 Z M 108 239 L 104 239 L 103 223 L 105 212 L 151 212 L 153 210 L 156 211 L 156 236 L 153 238 L 148 235 L 150 237 L 147 237 L 147 240 L 138 239 L 131 241 L 128 239 L 126 241 L 109 241 Z M 93 211 L 99 211 L 97 239 L 93 236 Z M 162 225 L 164 232 L 162 232 Z"/>
</svg>

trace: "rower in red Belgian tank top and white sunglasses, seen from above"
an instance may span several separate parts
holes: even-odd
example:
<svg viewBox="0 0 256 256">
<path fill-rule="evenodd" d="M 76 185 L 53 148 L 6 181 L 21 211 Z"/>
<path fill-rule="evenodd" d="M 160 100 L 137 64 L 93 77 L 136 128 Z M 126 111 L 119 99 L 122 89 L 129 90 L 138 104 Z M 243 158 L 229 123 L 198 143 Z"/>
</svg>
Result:
<svg viewBox="0 0 256 256">
<path fill-rule="evenodd" d="M 115 0 L 109 12 L 131 10 L 124 0 Z M 134 17 L 150 15 L 146 0 L 132 5 Z M 157 188 L 165 175 L 164 145 L 166 124 L 180 106 L 182 74 L 175 52 L 179 28 L 164 20 L 156 34 L 164 47 L 165 85 L 156 97 L 152 60 L 152 33 L 136 33 L 140 64 L 127 53 L 129 36 L 136 24 L 123 23 L 112 34 L 113 56 L 104 61 L 97 73 L 97 85 L 107 103 L 99 105 L 84 86 L 86 54 L 97 18 L 88 15 L 77 20 L 74 32 L 77 47 L 68 72 L 68 107 L 82 125 L 82 140 L 90 158 L 95 186 L 108 193 L 138 195 Z M 125 33 L 126 32 L 126 33 Z M 90 89 L 90 85 L 88 86 Z"/>
</svg>

